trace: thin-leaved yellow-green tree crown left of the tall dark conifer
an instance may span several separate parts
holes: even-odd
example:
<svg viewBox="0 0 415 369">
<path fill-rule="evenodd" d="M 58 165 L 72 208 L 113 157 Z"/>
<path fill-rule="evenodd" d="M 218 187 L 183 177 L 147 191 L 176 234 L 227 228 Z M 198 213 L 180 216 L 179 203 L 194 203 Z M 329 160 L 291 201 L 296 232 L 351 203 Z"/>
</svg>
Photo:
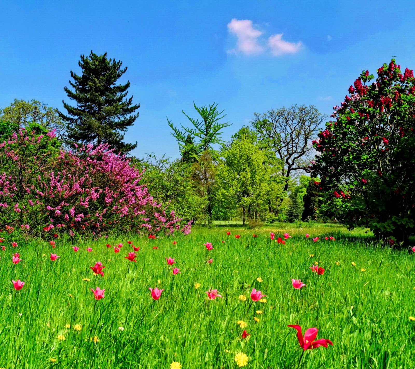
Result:
<svg viewBox="0 0 415 369">
<path fill-rule="evenodd" d="M 56 137 L 65 134 L 65 124 L 59 116 L 58 110 L 37 100 L 18 100 L 4 109 L 0 109 L 0 135 L 7 132 L 18 132 L 21 128 L 28 128 L 30 123 L 36 123 L 47 131 L 56 131 Z M 7 125 L 7 127 L 6 127 Z"/>
</svg>

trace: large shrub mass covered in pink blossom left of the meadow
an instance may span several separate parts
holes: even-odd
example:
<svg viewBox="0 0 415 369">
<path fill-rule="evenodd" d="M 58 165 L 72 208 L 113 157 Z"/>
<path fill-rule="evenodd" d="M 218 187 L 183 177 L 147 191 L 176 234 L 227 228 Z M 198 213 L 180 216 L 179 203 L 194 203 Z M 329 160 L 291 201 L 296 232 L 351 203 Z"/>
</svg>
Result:
<svg viewBox="0 0 415 369">
<path fill-rule="evenodd" d="M 107 231 L 172 234 L 190 224 L 166 214 L 142 172 L 108 146 L 56 149 L 54 132 L 21 130 L 0 144 L 0 229 L 101 235 Z"/>
</svg>

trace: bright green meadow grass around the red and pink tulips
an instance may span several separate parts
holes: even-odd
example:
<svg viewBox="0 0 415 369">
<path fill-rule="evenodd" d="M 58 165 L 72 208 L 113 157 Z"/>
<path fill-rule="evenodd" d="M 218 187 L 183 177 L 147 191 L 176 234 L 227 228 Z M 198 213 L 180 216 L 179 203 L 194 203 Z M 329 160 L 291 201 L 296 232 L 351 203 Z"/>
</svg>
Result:
<svg viewBox="0 0 415 369">
<path fill-rule="evenodd" d="M 415 316 L 415 254 L 373 244 L 364 230 L 274 227 L 255 231 L 257 238 L 236 227 L 229 236 L 226 227 L 194 227 L 186 237 L 110 237 L 80 243 L 77 253 L 59 239 L 55 249 L 46 241 L 19 242 L 13 249 L 6 240 L 0 252 L 0 367 L 168 368 L 176 361 L 183 369 L 234 368 L 235 354 L 244 352 L 250 368 L 295 368 L 302 349 L 288 324 L 303 332 L 317 327 L 317 339 L 334 343 L 305 352 L 302 368 L 415 367 L 415 321 L 409 319 Z M 270 231 L 293 238 L 277 244 Z M 315 236 L 320 241 L 313 242 Z M 141 247 L 137 263 L 124 258 L 132 251 L 129 239 Z M 212 251 L 203 246 L 207 241 Z M 105 247 L 117 242 L 124 244 L 118 254 Z M 93 252 L 85 251 L 88 246 Z M 51 261 L 52 251 L 61 257 Z M 20 252 L 17 265 L 13 252 Z M 173 276 L 165 257 L 175 258 L 181 274 Z M 210 258 L 211 265 L 205 262 Z M 90 269 L 96 261 L 105 265 L 103 277 Z M 322 276 L 309 269 L 314 261 L 325 268 Z M 295 290 L 291 278 L 307 286 Z M 15 291 L 12 279 L 26 284 Z M 105 288 L 100 301 L 90 291 L 96 286 Z M 164 291 L 153 301 L 148 288 L 156 286 Z M 253 287 L 267 295 L 266 303 L 251 303 Z M 223 298 L 207 301 L 208 288 Z M 247 301 L 238 299 L 241 294 Z M 238 320 L 247 323 L 249 340 L 241 340 Z M 74 330 L 75 324 L 82 329 Z M 95 336 L 99 342 L 91 340 Z"/>
</svg>

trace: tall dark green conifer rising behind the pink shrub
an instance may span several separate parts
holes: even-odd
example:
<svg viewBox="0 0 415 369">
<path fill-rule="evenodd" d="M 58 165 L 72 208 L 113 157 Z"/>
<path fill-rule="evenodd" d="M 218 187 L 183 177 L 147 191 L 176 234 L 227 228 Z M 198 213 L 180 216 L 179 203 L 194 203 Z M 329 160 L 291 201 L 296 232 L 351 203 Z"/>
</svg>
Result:
<svg viewBox="0 0 415 369">
<path fill-rule="evenodd" d="M 75 91 L 64 87 L 68 97 L 76 101 L 76 106 L 62 100 L 68 115 L 59 112 L 68 125 L 68 143 L 105 143 L 122 153 L 137 147 L 137 142 L 128 144 L 122 141 L 122 132 L 133 125 L 138 117 L 138 113 L 133 113 L 140 107 L 132 105 L 132 96 L 124 99 L 128 94 L 129 81 L 116 85 L 127 67 L 121 69 L 122 62 L 107 59 L 107 53 L 97 55 L 92 51 L 89 56 L 81 55 L 78 65 L 82 68 L 82 75 L 71 71 L 74 82 L 69 81 Z"/>
</svg>

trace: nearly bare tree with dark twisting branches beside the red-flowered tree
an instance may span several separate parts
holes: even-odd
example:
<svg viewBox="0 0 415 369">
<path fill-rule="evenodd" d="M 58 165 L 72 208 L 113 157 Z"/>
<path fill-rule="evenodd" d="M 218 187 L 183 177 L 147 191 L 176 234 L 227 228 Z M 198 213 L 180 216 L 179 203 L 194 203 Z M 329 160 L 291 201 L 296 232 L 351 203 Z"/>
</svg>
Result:
<svg viewBox="0 0 415 369">
<path fill-rule="evenodd" d="M 287 179 L 284 187 L 284 191 L 287 191 L 288 178 L 295 171 L 309 173 L 310 159 L 314 156 L 312 140 L 327 115 L 321 114 L 313 105 L 293 105 L 254 115 L 251 125 L 259 139 L 267 141 L 284 163 L 281 174 Z"/>
</svg>

